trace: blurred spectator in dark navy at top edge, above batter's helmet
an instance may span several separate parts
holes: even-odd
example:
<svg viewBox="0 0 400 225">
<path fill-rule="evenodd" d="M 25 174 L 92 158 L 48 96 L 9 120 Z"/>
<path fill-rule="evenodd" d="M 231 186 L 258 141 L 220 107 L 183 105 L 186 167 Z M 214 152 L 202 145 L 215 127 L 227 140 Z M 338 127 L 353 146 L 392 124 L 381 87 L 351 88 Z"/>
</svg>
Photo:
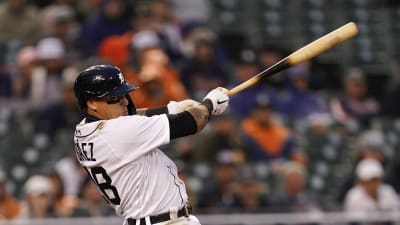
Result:
<svg viewBox="0 0 400 225">
<path fill-rule="evenodd" d="M 105 38 L 121 35 L 132 29 L 129 11 L 127 1 L 101 0 L 98 12 L 83 25 L 83 50 L 88 55 L 94 55 Z"/>
</svg>

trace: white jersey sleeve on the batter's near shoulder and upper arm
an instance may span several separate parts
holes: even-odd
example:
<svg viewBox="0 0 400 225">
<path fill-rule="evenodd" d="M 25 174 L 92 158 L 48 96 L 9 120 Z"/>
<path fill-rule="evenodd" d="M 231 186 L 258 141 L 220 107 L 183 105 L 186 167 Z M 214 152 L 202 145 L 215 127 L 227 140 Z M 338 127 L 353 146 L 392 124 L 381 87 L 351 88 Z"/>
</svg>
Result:
<svg viewBox="0 0 400 225">
<path fill-rule="evenodd" d="M 119 117 L 107 121 L 102 136 L 117 157 L 133 160 L 170 142 L 169 122 L 166 115 Z"/>
</svg>

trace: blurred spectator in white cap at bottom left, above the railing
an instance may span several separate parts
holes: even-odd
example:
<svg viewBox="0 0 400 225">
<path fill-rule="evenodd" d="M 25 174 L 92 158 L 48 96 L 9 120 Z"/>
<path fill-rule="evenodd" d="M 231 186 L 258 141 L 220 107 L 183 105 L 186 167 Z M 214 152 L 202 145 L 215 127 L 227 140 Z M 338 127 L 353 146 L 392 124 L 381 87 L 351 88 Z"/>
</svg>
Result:
<svg viewBox="0 0 400 225">
<path fill-rule="evenodd" d="M 24 184 L 23 211 L 20 218 L 55 217 L 52 205 L 52 186 L 44 175 L 33 175 Z"/>
</svg>

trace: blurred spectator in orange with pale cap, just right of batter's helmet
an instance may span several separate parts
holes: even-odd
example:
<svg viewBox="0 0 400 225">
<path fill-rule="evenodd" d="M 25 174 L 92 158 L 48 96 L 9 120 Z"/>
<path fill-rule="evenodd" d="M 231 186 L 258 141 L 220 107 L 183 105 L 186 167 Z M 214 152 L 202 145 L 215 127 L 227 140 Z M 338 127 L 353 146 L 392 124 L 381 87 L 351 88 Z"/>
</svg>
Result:
<svg viewBox="0 0 400 225">
<path fill-rule="evenodd" d="M 137 107 L 159 107 L 170 101 L 188 98 L 180 75 L 170 64 L 155 32 L 141 31 L 135 34 L 132 48 L 131 61 L 135 65 L 123 70 L 126 80 L 140 87 L 131 93 Z"/>
</svg>

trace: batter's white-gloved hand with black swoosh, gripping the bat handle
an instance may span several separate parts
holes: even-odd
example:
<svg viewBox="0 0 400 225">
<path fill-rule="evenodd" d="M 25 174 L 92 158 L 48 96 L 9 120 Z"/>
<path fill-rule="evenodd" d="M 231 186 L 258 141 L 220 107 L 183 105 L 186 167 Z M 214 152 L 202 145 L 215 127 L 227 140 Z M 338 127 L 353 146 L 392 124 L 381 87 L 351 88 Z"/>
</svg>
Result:
<svg viewBox="0 0 400 225">
<path fill-rule="evenodd" d="M 229 104 L 228 90 L 223 87 L 217 87 L 204 97 L 203 102 L 209 100 L 212 104 L 211 114 L 221 115 L 225 112 Z"/>
</svg>

